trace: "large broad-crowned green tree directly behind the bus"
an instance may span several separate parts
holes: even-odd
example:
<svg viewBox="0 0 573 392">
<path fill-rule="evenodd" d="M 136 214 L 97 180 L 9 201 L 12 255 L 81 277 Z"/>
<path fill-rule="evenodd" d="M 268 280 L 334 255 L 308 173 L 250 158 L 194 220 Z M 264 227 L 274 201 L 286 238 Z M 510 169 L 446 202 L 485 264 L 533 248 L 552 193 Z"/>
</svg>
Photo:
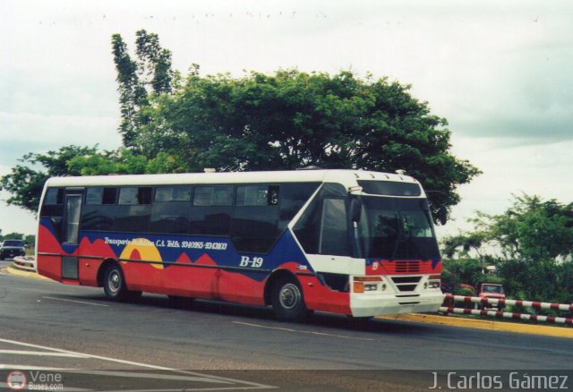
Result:
<svg viewBox="0 0 573 392">
<path fill-rule="evenodd" d="M 192 72 L 174 94 L 150 98 L 136 144 L 147 158 L 167 152 L 190 171 L 406 169 L 435 191 L 436 212 L 457 204 L 458 184 L 480 171 L 449 152 L 446 120 L 408 89 L 352 72 Z"/>
</svg>

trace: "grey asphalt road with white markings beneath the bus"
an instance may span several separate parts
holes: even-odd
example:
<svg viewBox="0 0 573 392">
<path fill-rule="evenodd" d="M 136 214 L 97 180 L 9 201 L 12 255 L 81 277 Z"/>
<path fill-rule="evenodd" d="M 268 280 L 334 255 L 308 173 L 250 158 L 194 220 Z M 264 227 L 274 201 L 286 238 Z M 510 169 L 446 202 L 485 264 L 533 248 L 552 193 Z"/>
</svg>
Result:
<svg viewBox="0 0 573 392">
<path fill-rule="evenodd" d="M 233 388 L 427 390 L 434 371 L 440 379 L 449 371 L 569 371 L 573 352 L 573 339 L 322 313 L 282 323 L 269 309 L 175 307 L 151 294 L 110 303 L 101 289 L 4 274 L 0 314 L 5 370 L 177 370 L 199 384 L 238 382 Z"/>
</svg>

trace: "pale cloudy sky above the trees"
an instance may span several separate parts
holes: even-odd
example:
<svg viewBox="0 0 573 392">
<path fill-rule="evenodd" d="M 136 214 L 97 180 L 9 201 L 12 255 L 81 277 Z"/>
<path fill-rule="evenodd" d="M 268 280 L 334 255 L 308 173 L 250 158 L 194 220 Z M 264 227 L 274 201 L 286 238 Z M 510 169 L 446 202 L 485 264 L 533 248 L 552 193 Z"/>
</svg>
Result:
<svg viewBox="0 0 573 392">
<path fill-rule="evenodd" d="M 470 230 L 512 195 L 573 202 L 573 2 L 569 0 L 0 2 L 0 175 L 28 152 L 121 144 L 111 36 L 158 33 L 186 74 L 388 77 L 445 117 L 451 152 L 483 171 L 440 236 Z M 34 234 L 5 204 L 4 234 Z"/>
</svg>

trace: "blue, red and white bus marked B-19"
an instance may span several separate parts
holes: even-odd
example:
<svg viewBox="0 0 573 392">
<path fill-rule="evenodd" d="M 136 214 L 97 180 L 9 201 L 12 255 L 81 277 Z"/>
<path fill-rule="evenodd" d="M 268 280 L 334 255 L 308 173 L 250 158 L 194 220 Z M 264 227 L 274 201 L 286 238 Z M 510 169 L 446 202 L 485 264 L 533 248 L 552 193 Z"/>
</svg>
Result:
<svg viewBox="0 0 573 392">
<path fill-rule="evenodd" d="M 47 180 L 38 273 L 103 287 L 355 318 L 437 311 L 442 262 L 414 178 L 362 170 Z"/>
</svg>

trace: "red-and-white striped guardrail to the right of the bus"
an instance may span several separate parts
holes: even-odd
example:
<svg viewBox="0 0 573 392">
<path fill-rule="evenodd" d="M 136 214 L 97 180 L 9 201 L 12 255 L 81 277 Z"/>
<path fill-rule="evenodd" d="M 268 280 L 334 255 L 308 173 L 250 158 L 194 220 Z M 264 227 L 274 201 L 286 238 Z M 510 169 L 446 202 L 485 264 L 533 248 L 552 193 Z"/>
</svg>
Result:
<svg viewBox="0 0 573 392">
<path fill-rule="evenodd" d="M 453 295 L 453 294 L 446 294 L 444 300 L 456 301 L 462 303 L 491 304 L 493 306 L 513 305 L 513 306 L 522 306 L 524 308 L 552 309 L 555 311 L 573 311 L 573 304 L 566 304 L 566 303 L 540 303 L 535 301 L 517 301 L 517 300 L 506 300 L 506 299 L 480 298 L 480 297 L 469 297 L 464 295 Z M 484 317 L 498 317 L 504 319 L 513 319 L 513 320 L 532 320 L 532 321 L 573 325 L 573 319 L 571 318 L 556 317 L 556 316 L 541 316 L 537 314 L 513 313 L 509 311 L 487 311 L 487 310 L 479 311 L 475 309 L 455 308 L 453 306 L 451 307 L 442 306 L 440 307 L 439 311 L 444 313 L 473 314 L 475 316 L 484 316 Z"/>
</svg>

